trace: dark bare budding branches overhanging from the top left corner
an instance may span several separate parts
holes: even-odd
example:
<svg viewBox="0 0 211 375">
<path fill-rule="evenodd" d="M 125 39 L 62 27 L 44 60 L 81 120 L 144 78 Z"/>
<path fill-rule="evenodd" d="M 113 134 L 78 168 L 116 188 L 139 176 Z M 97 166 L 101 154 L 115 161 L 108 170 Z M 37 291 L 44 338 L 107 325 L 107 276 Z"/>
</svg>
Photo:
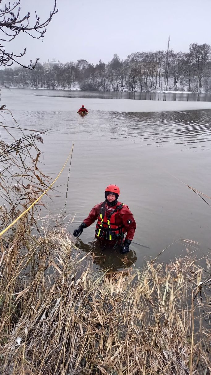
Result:
<svg viewBox="0 0 211 375">
<path fill-rule="evenodd" d="M 21 0 L 12 4 L 9 2 L 3 9 L 0 9 L 1 42 L 10 42 L 20 33 L 26 33 L 34 39 L 43 38 L 47 30 L 46 27 L 52 20 L 53 15 L 58 12 L 58 9 L 56 10 L 56 2 L 57 0 L 54 0 L 54 9 L 50 12 L 49 18 L 44 22 L 40 22 L 40 17 L 37 16 L 37 13 L 35 12 L 36 20 L 34 26 L 30 26 L 29 12 L 24 17 L 21 16 Z M 1 3 L 2 0 L 0 0 L 0 6 Z M 21 62 L 19 62 L 19 59 L 25 54 L 25 52 L 26 48 L 24 48 L 24 51 L 20 53 L 20 55 L 15 55 L 13 52 L 7 51 L 5 46 L 0 43 L 0 65 L 12 65 L 12 63 L 15 62 L 23 68 L 34 69 L 39 58 L 36 59 L 34 64 L 32 64 L 30 60 L 30 66 L 22 65 Z"/>
</svg>

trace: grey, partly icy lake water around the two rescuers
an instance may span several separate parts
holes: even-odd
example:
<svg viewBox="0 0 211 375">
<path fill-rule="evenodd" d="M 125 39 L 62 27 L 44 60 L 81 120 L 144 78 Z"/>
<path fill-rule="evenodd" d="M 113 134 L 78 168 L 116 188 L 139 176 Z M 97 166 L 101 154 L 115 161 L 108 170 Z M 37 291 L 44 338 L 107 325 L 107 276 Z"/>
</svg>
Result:
<svg viewBox="0 0 211 375">
<path fill-rule="evenodd" d="M 107 184 L 120 186 L 120 201 L 137 223 L 134 241 L 127 256 L 100 253 L 95 225 L 86 228 L 76 245 L 81 254 L 94 251 L 96 268 L 140 267 L 167 247 L 159 257 L 166 263 L 185 256 L 186 248 L 200 257 L 210 251 L 211 207 L 184 183 L 211 196 L 211 96 L 166 94 L 162 99 L 165 94 L 152 93 L 153 101 L 148 95 L 130 100 L 140 94 L 1 90 L 1 104 L 21 127 L 50 129 L 38 146 L 42 170 L 53 179 L 75 142 L 65 207 L 66 221 L 75 215 L 71 233 L 104 199 Z M 89 110 L 84 117 L 76 113 L 82 104 Z M 1 131 L 1 137 L 7 135 Z M 68 170 L 66 165 L 52 193 L 51 214 L 63 210 Z M 181 239 L 200 245 L 195 249 Z"/>
</svg>

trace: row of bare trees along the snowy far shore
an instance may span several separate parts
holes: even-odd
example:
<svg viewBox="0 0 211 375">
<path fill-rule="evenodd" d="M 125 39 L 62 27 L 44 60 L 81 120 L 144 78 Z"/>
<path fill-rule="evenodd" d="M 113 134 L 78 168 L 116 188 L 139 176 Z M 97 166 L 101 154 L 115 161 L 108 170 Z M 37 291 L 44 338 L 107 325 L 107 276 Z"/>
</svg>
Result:
<svg viewBox="0 0 211 375">
<path fill-rule="evenodd" d="M 1 0 L 0 0 L 1 1 Z M 210 45 L 190 45 L 189 53 L 169 50 L 168 59 L 163 51 L 135 52 L 123 61 L 117 54 L 107 65 L 99 61 L 93 65 L 81 59 L 67 62 L 62 67 L 54 66 L 52 70 L 44 71 L 39 63 L 33 71 L 23 68 L 7 68 L 0 71 L 0 81 L 4 85 L 47 87 L 72 89 L 76 81 L 82 90 L 123 90 L 126 86 L 130 91 L 155 90 L 161 86 L 163 76 L 165 86 L 169 77 L 174 80 L 174 89 L 178 85 L 188 87 L 188 90 L 201 92 L 202 87 L 210 91 L 211 59 Z M 167 61 L 167 64 L 166 64 Z"/>
</svg>

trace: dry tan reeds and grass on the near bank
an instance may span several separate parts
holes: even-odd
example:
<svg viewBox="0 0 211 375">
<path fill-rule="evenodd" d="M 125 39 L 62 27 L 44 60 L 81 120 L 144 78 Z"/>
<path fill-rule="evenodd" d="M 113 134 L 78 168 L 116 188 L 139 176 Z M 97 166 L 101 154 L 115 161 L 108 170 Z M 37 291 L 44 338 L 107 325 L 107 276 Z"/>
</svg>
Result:
<svg viewBox="0 0 211 375">
<path fill-rule="evenodd" d="M 34 133 L 0 147 L 2 230 L 50 181 Z M 209 259 L 93 272 L 40 207 L 0 237 L 0 374 L 211 374 Z"/>
</svg>

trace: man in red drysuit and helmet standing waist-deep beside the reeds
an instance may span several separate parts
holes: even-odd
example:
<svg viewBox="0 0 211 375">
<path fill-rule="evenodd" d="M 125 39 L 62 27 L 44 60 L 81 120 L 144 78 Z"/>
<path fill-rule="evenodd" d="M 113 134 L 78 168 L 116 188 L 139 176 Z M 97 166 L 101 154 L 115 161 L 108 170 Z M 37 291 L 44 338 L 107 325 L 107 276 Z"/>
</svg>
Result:
<svg viewBox="0 0 211 375">
<path fill-rule="evenodd" d="M 75 229 L 73 236 L 79 237 L 84 228 L 97 220 L 95 237 L 113 247 L 118 243 L 121 254 L 128 253 L 136 222 L 128 206 L 117 200 L 119 194 L 120 189 L 117 185 L 108 185 L 105 189 L 105 201 L 92 208 L 88 217 Z M 124 239 L 125 233 L 127 234 Z"/>
</svg>

